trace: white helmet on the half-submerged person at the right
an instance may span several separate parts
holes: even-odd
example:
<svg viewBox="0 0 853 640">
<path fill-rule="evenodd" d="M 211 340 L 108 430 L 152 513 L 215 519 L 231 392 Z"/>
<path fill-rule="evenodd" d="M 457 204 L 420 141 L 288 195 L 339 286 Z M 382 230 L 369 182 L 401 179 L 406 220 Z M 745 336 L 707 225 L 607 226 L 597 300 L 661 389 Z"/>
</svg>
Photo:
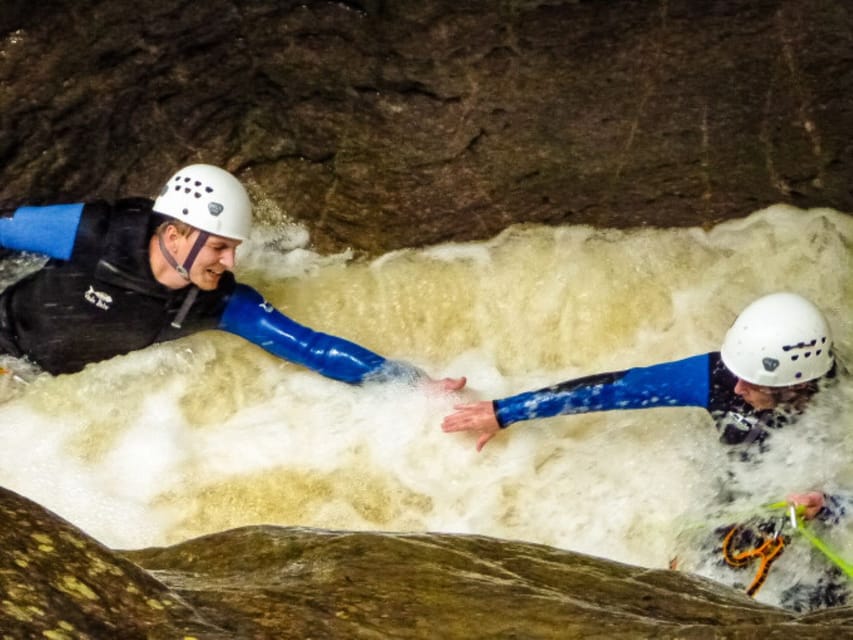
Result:
<svg viewBox="0 0 853 640">
<path fill-rule="evenodd" d="M 820 378 L 832 368 L 832 337 L 811 302 L 796 293 L 772 293 L 741 312 L 720 355 L 742 380 L 787 387 Z"/>
</svg>

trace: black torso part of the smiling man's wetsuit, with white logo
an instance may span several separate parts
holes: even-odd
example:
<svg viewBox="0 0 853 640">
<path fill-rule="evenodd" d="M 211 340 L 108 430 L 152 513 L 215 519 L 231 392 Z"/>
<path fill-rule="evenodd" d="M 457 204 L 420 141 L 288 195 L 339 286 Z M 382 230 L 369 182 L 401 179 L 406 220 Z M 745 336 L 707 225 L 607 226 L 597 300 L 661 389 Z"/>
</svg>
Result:
<svg viewBox="0 0 853 640">
<path fill-rule="evenodd" d="M 145 199 L 87 205 L 73 259 L 47 264 L 0 294 L 0 342 L 50 373 L 155 342 L 216 328 L 234 276 L 225 272 L 214 291 L 199 291 L 181 322 L 171 325 L 191 287 L 169 289 L 154 278 L 148 242 L 164 218 Z"/>
</svg>

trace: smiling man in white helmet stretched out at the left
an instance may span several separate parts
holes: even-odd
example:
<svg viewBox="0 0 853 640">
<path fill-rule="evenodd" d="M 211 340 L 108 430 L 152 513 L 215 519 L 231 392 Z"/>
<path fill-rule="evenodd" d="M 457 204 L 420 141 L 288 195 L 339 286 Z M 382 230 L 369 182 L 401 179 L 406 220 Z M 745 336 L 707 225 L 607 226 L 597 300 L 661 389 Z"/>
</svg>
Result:
<svg viewBox="0 0 853 640">
<path fill-rule="evenodd" d="M 0 293 L 0 353 L 73 373 L 91 362 L 220 329 L 351 384 L 429 381 L 422 371 L 286 317 L 237 283 L 252 206 L 212 165 L 175 173 L 155 201 L 20 207 L 0 214 L 0 247 L 41 253 L 40 270 Z M 465 379 L 444 379 L 455 390 Z"/>
</svg>

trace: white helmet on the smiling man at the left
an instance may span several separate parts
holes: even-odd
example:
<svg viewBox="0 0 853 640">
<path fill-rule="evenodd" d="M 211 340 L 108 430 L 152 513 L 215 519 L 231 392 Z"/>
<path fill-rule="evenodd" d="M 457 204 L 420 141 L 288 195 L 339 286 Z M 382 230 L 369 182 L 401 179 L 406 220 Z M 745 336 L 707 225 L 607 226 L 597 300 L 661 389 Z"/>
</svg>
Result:
<svg viewBox="0 0 853 640">
<path fill-rule="evenodd" d="M 209 164 L 189 165 L 169 178 L 154 211 L 233 240 L 245 240 L 252 228 L 252 203 L 245 187 Z"/>
</svg>

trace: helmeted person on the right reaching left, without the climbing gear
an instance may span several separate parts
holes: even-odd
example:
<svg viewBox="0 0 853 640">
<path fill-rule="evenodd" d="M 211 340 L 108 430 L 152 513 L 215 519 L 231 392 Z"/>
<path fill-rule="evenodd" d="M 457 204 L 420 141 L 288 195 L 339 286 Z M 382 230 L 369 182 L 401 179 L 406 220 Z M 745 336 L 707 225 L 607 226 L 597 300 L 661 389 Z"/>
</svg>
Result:
<svg viewBox="0 0 853 640">
<path fill-rule="evenodd" d="M 498 400 L 455 406 L 445 432 L 480 434 L 480 451 L 502 429 L 534 418 L 615 409 L 704 407 L 726 444 L 761 446 L 767 429 L 795 419 L 834 374 L 832 337 L 823 314 L 802 296 L 774 293 L 750 304 L 726 334 L 720 352 L 610 372 Z M 814 517 L 819 492 L 792 494 Z"/>
</svg>

